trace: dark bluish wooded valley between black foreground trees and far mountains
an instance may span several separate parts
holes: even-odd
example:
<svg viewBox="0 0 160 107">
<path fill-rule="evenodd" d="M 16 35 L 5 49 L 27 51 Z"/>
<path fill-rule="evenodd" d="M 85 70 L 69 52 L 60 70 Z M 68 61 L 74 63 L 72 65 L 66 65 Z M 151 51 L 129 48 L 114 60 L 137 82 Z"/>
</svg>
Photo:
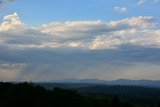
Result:
<svg viewBox="0 0 160 107">
<path fill-rule="evenodd" d="M 116 95 L 123 100 L 130 100 L 136 103 L 155 104 L 160 100 L 160 88 L 157 87 L 87 83 L 38 83 L 38 85 L 46 89 L 60 87 L 76 90 L 81 94 L 90 96 L 106 96 L 111 98 Z"/>
</svg>

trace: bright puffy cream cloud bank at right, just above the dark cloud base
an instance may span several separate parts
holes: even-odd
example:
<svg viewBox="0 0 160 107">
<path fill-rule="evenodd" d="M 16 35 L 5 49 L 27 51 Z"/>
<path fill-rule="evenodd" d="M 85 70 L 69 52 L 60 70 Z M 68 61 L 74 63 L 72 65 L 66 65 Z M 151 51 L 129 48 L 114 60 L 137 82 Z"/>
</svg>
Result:
<svg viewBox="0 0 160 107">
<path fill-rule="evenodd" d="M 120 45 L 137 45 L 145 47 L 160 47 L 160 30 L 135 29 L 112 32 L 108 35 L 97 36 L 91 43 L 91 49 L 116 48 Z"/>
</svg>

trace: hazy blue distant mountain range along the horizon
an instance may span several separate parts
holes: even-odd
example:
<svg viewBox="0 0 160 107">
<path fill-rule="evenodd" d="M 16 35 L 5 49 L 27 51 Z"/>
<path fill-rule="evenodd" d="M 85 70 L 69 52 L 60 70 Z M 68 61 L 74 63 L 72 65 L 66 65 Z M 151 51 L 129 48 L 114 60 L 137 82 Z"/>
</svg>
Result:
<svg viewBox="0 0 160 107">
<path fill-rule="evenodd" d="M 157 87 L 160 88 L 160 80 L 129 80 L 129 79 L 118 79 L 118 80 L 98 80 L 98 79 L 66 79 L 56 80 L 56 83 L 83 83 L 83 84 L 102 84 L 102 85 L 127 85 L 127 86 L 145 86 L 145 87 Z"/>
</svg>

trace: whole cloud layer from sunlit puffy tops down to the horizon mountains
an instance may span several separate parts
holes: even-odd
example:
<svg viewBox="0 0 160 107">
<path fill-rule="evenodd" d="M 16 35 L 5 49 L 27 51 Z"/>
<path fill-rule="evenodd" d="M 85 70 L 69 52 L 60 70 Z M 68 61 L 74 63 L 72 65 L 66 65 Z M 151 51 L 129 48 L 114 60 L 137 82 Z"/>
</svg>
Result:
<svg viewBox="0 0 160 107">
<path fill-rule="evenodd" d="M 159 53 L 159 23 L 151 16 L 31 27 L 13 13 L 0 24 L 0 79 L 6 81 L 158 79 Z"/>
</svg>

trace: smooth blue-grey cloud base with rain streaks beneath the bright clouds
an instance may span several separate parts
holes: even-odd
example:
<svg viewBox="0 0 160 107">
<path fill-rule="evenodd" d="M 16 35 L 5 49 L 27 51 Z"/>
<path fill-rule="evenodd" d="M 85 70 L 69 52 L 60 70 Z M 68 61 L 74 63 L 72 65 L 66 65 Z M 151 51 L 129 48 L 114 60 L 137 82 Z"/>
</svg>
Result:
<svg viewBox="0 0 160 107">
<path fill-rule="evenodd" d="M 109 75 L 117 75 L 119 69 L 128 67 L 132 69 L 138 63 L 159 66 L 160 49 L 120 46 L 117 49 L 102 51 L 63 52 L 62 49 L 60 52 L 56 49 L 9 50 L 1 48 L 0 63 L 27 64 L 27 67 L 20 71 L 21 76 L 17 80 L 96 78 L 95 75 L 101 79 L 101 75 L 107 72 Z"/>
</svg>

